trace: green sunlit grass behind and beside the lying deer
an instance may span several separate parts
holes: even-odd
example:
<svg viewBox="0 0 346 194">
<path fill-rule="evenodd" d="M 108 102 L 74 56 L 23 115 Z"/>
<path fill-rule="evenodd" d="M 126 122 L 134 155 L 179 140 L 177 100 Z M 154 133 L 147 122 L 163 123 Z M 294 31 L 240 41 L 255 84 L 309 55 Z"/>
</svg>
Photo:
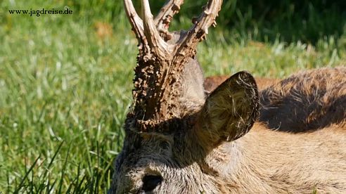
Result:
<svg viewBox="0 0 346 194">
<path fill-rule="evenodd" d="M 110 186 L 137 53 L 122 4 L 115 2 L 0 1 L 0 193 L 105 193 Z M 74 13 L 8 14 L 8 8 L 64 6 Z M 198 46 L 206 76 L 248 70 L 281 78 L 346 64 L 345 18 L 337 13 L 323 18 L 328 10 L 322 16 L 312 10 L 321 32 L 328 22 L 343 24 L 343 30 L 300 41 L 294 28 L 284 37 L 275 30 L 288 16 L 272 22 L 272 38 L 263 33 L 268 21 L 254 21 L 248 11 L 238 11 L 233 24 L 210 30 Z M 174 29 L 189 26 L 183 15 Z M 98 37 L 97 22 L 111 25 L 112 35 Z"/>
</svg>

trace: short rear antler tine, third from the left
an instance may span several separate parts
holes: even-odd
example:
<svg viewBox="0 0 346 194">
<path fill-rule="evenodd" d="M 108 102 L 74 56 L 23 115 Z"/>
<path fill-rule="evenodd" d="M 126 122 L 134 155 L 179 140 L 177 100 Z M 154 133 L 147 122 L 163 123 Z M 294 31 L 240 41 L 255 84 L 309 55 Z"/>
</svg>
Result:
<svg viewBox="0 0 346 194">
<path fill-rule="evenodd" d="M 168 0 L 160 10 L 160 13 L 155 18 L 155 25 L 159 32 L 167 34 L 169 23 L 171 22 L 174 14 L 180 11 L 181 4 L 184 0 Z"/>
</svg>

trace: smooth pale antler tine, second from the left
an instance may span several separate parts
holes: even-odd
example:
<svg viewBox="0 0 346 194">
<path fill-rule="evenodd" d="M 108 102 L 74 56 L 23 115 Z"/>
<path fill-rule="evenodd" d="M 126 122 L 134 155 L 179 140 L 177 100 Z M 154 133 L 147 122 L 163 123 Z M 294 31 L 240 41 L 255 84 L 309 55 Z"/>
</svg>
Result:
<svg viewBox="0 0 346 194">
<path fill-rule="evenodd" d="M 150 48 L 160 59 L 165 59 L 169 56 L 167 51 L 167 43 L 160 37 L 158 30 L 154 24 L 153 14 L 150 11 L 148 0 L 142 0 L 143 25 L 144 34 L 148 40 Z"/>
</svg>

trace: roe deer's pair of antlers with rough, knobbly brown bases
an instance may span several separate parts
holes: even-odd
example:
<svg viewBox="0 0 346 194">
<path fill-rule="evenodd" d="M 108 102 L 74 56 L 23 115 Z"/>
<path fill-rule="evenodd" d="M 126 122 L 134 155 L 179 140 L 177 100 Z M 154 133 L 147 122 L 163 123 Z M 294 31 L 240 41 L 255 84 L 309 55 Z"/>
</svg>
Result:
<svg viewBox="0 0 346 194">
<path fill-rule="evenodd" d="M 139 40 L 133 91 L 134 116 L 143 121 L 178 117 L 173 112 L 179 109 L 176 103 L 181 91 L 179 73 L 196 55 L 196 46 L 205 39 L 208 27 L 216 25 L 222 0 L 209 0 L 193 27 L 182 33 L 179 41 L 168 43 L 171 38 L 169 23 L 183 3 L 184 0 L 167 1 L 154 20 L 148 0 L 141 0 L 141 18 L 132 1 L 124 0 L 129 22 Z"/>
</svg>

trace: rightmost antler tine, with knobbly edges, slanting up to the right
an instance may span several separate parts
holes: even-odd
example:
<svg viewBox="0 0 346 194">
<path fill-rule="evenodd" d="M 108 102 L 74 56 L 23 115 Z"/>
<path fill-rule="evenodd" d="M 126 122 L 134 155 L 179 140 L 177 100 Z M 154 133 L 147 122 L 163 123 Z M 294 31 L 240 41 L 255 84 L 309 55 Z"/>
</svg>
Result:
<svg viewBox="0 0 346 194">
<path fill-rule="evenodd" d="M 184 37 L 177 43 L 175 47 L 175 55 L 177 60 L 184 60 L 188 56 L 193 56 L 196 52 L 196 46 L 198 42 L 205 39 L 208 34 L 208 28 L 210 25 L 216 26 L 215 18 L 221 10 L 222 0 L 209 0 L 204 11 L 197 20 L 194 22 L 191 30 L 184 35 Z M 180 56 L 180 57 L 179 57 Z"/>
</svg>

